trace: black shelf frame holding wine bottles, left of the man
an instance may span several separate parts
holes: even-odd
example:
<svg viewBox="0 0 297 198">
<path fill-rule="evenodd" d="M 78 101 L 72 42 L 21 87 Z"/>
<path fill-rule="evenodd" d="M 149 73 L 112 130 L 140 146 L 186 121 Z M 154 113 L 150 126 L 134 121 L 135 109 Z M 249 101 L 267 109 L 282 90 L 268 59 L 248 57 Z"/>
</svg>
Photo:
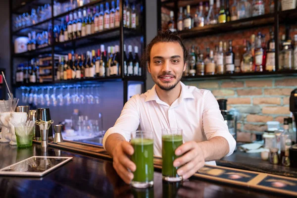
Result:
<svg viewBox="0 0 297 198">
<path fill-rule="evenodd" d="M 51 17 L 49 19 L 46 19 L 44 21 L 38 22 L 36 24 L 30 25 L 28 27 L 24 27 L 22 29 L 18 29 L 15 31 L 12 31 L 12 16 L 13 14 L 20 14 L 23 10 L 30 10 L 33 6 L 38 6 L 41 5 L 42 3 L 50 2 L 51 5 Z M 60 1 L 60 0 L 59 0 Z M 69 0 L 70 1 L 70 0 Z M 62 43 L 53 43 L 51 46 L 31 50 L 31 51 L 26 51 L 23 53 L 14 53 L 14 45 L 13 45 L 13 38 L 16 36 L 26 36 L 26 34 L 29 31 L 32 30 L 39 30 L 41 29 L 40 26 L 43 26 L 43 30 L 47 30 L 44 28 L 45 25 L 48 23 L 51 23 L 52 26 L 55 24 L 56 21 L 60 21 L 59 19 L 61 17 L 65 17 L 68 15 L 70 12 L 77 11 L 79 9 L 82 9 L 84 7 L 89 7 L 89 6 L 95 6 L 99 3 L 105 3 L 105 2 L 110 2 L 111 0 L 93 0 L 90 3 L 84 4 L 83 6 L 77 7 L 75 9 L 72 9 L 70 11 L 60 13 L 56 16 L 53 16 L 53 2 L 54 0 L 25 0 L 22 1 L 21 5 L 14 6 L 12 4 L 12 0 L 9 2 L 10 3 L 10 42 L 11 42 L 11 56 L 10 56 L 10 67 L 14 67 L 14 59 L 21 58 L 23 59 L 31 59 L 33 57 L 37 57 L 38 55 L 42 54 L 51 54 L 52 57 L 52 62 L 54 62 L 54 53 L 60 53 L 62 51 L 67 51 L 67 50 L 76 50 L 81 47 L 86 47 L 86 46 L 91 46 L 94 44 L 103 44 L 111 41 L 119 41 L 119 48 L 120 48 L 120 54 L 123 54 L 124 51 L 124 39 L 127 38 L 132 38 L 132 37 L 141 37 L 141 46 L 142 49 L 145 48 L 146 46 L 146 26 L 143 25 L 146 23 L 146 10 L 142 9 L 142 12 L 140 13 L 141 16 L 140 22 L 139 22 L 139 27 L 138 29 L 130 29 L 123 27 L 123 3 L 124 0 L 119 0 L 119 7 L 120 7 L 120 27 L 118 28 L 113 28 L 109 30 L 105 30 L 102 32 L 98 32 L 92 35 L 87 35 L 85 37 L 81 37 L 75 40 L 71 41 L 66 41 Z M 116 1 L 116 0 L 115 0 Z M 146 0 L 129 0 L 130 3 L 137 1 L 140 3 L 143 7 L 146 4 Z M 14 8 L 13 8 L 14 6 Z M 53 35 L 53 30 L 52 30 L 52 35 Z M 140 51 L 142 51 L 140 49 Z M 121 56 L 121 63 L 123 63 L 123 56 Z M 13 83 L 13 80 L 11 80 L 11 84 L 13 85 L 14 89 L 20 88 L 20 87 L 37 87 L 37 86 L 58 86 L 58 85 L 70 85 L 70 84 L 88 84 L 88 83 L 97 83 L 97 82 L 106 82 L 106 81 L 122 81 L 123 82 L 123 92 L 124 92 L 124 104 L 127 101 L 127 92 L 128 92 L 128 84 L 129 82 L 142 82 L 144 90 L 146 90 L 146 72 L 143 71 L 142 76 L 125 76 L 124 75 L 124 66 L 121 64 L 121 75 L 120 76 L 109 76 L 109 77 L 102 77 L 102 78 L 92 78 L 92 79 L 73 79 L 73 80 L 67 80 L 67 81 L 54 81 L 54 65 L 52 66 L 52 81 L 51 82 L 44 82 L 44 83 L 28 83 L 28 84 L 19 84 L 19 83 Z M 11 79 L 14 79 L 14 70 L 12 69 L 11 72 Z M 15 91 L 15 90 L 14 90 Z"/>
</svg>

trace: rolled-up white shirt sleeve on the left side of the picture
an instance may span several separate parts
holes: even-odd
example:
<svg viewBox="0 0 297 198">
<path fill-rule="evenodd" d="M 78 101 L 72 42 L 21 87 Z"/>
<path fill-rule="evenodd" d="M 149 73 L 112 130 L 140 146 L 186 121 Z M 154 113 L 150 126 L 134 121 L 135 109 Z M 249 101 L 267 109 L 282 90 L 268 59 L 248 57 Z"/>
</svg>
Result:
<svg viewBox="0 0 297 198">
<path fill-rule="evenodd" d="M 110 134 L 121 134 L 126 141 L 131 140 L 131 132 L 138 129 L 140 119 L 137 106 L 137 96 L 130 98 L 123 107 L 120 117 L 116 120 L 113 127 L 109 128 L 102 140 L 103 148 L 105 149 L 105 141 Z"/>
</svg>

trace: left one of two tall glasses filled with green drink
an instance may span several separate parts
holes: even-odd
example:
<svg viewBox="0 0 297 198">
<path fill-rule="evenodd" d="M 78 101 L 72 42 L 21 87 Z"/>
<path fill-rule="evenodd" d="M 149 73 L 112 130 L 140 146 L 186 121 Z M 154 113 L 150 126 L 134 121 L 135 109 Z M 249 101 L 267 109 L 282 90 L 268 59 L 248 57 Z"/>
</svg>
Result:
<svg viewBox="0 0 297 198">
<path fill-rule="evenodd" d="M 153 185 L 153 133 L 135 131 L 131 133 L 134 153 L 131 160 L 136 165 L 131 185 L 135 188 L 148 188 Z"/>
</svg>

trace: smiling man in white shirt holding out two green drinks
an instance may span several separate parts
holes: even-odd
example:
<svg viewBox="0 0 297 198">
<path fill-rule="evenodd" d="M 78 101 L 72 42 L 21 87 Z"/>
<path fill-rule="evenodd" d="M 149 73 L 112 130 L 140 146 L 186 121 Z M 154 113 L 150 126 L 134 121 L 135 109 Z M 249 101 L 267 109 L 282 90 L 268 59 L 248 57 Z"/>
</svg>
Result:
<svg viewBox="0 0 297 198">
<path fill-rule="evenodd" d="M 183 130 L 184 144 L 175 150 L 173 165 L 183 179 L 194 175 L 204 164 L 231 155 L 236 141 L 224 123 L 219 105 L 208 90 L 181 82 L 190 58 L 180 37 L 171 31 L 159 32 L 148 44 L 144 60 L 155 85 L 129 99 L 114 126 L 107 130 L 103 147 L 113 157 L 113 167 L 130 184 L 136 165 L 130 160 L 134 149 L 131 132 L 152 131 L 154 155 L 162 153 L 162 128 Z"/>
</svg>

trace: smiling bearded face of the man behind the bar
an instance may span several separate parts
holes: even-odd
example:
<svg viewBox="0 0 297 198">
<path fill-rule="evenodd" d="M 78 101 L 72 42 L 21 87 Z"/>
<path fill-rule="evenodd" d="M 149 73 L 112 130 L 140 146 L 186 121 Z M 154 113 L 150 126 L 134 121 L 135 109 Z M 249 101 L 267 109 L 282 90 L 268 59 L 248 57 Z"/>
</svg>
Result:
<svg viewBox="0 0 297 198">
<path fill-rule="evenodd" d="M 150 50 L 148 72 L 153 82 L 162 90 L 172 90 L 181 80 L 184 64 L 184 52 L 177 42 L 160 42 Z"/>
</svg>

